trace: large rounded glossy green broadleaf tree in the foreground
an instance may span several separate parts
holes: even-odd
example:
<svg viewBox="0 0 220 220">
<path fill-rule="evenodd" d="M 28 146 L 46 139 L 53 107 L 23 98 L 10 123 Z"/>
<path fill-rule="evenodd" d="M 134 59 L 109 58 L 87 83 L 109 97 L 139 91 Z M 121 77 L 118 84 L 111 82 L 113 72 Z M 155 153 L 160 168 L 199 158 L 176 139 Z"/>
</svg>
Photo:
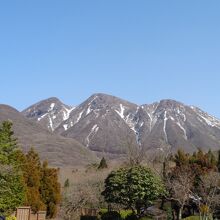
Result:
<svg viewBox="0 0 220 220">
<path fill-rule="evenodd" d="M 147 208 L 165 195 L 161 179 L 143 166 L 120 168 L 112 171 L 105 179 L 102 195 L 108 203 L 123 205 L 126 209 Z"/>
</svg>

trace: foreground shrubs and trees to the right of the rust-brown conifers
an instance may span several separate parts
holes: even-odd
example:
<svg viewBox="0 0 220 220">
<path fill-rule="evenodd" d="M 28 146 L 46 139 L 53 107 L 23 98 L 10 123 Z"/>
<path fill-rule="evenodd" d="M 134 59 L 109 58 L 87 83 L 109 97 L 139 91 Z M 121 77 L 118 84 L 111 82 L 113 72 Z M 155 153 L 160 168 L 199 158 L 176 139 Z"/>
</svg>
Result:
<svg viewBox="0 0 220 220">
<path fill-rule="evenodd" d="M 137 154 L 142 155 L 142 154 Z M 134 160 L 130 160 L 134 161 Z M 138 161 L 138 160 L 135 160 Z M 120 219 L 151 219 L 148 208 L 154 206 L 168 219 L 212 219 L 220 210 L 220 158 L 213 152 L 198 150 L 190 155 L 179 150 L 160 158 L 161 169 L 140 163 L 122 164 L 121 168 L 77 171 L 64 187 L 62 216 L 78 219 L 79 207 L 130 210 L 132 216 Z M 81 172 L 81 174 L 80 174 Z M 77 176 L 77 177 L 76 177 Z M 75 179 L 83 176 L 80 182 Z M 108 219 L 112 213 L 101 216 Z M 107 217 L 106 217 L 107 216 Z M 117 219 L 111 216 L 110 219 Z"/>
</svg>

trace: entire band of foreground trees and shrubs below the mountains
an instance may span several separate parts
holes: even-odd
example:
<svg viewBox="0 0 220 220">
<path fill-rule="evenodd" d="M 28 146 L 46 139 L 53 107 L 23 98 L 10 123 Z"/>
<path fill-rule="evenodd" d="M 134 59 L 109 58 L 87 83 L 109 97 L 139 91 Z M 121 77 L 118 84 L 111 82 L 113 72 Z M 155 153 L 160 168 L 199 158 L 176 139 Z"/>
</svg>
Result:
<svg viewBox="0 0 220 220">
<path fill-rule="evenodd" d="M 128 149 L 131 149 L 132 145 Z M 220 153 L 198 150 L 190 155 L 179 150 L 164 154 L 156 169 L 134 148 L 119 167 L 105 158 L 85 170 L 72 169 L 72 179 L 58 181 L 59 170 L 40 162 L 34 149 L 24 154 L 13 137 L 12 123 L 0 126 L 0 215 L 18 206 L 46 210 L 48 218 L 79 219 L 80 208 L 94 208 L 94 219 L 152 219 L 154 207 L 167 219 L 212 219 L 220 210 Z M 104 211 L 103 211 L 104 210 Z M 87 217 L 81 217 L 86 219 Z M 90 216 L 90 219 L 92 217 Z"/>
</svg>

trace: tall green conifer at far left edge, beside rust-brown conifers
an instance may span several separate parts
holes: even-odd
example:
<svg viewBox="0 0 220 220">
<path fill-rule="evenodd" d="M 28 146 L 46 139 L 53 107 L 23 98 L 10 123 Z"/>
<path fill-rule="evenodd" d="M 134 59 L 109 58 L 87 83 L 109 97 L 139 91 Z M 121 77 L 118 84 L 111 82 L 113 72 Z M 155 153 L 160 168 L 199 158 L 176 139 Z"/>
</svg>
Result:
<svg viewBox="0 0 220 220">
<path fill-rule="evenodd" d="M 18 150 L 13 137 L 12 123 L 5 121 L 0 126 L 0 214 L 8 215 L 25 199 L 22 173 L 16 165 Z"/>
</svg>

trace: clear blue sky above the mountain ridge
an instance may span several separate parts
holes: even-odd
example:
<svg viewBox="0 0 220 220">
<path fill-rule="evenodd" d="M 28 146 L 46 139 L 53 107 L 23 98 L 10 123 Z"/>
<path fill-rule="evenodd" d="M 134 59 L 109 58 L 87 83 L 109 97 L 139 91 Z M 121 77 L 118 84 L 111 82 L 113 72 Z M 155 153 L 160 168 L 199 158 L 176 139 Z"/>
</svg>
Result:
<svg viewBox="0 0 220 220">
<path fill-rule="evenodd" d="M 2 0 L 0 102 L 103 92 L 220 118 L 219 12 L 219 0 Z"/>
</svg>

